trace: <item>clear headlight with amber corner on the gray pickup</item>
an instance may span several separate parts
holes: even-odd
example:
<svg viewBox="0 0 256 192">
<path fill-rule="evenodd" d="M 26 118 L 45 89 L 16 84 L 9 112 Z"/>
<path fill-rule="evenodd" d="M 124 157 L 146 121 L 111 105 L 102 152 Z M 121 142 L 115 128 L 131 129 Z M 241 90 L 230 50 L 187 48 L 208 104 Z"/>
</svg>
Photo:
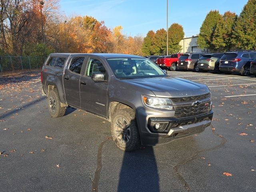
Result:
<svg viewBox="0 0 256 192">
<path fill-rule="evenodd" d="M 172 102 L 168 98 L 157 98 L 157 97 L 147 97 L 143 96 L 143 102 L 146 106 L 165 109 L 165 110 L 174 110 Z"/>
</svg>

